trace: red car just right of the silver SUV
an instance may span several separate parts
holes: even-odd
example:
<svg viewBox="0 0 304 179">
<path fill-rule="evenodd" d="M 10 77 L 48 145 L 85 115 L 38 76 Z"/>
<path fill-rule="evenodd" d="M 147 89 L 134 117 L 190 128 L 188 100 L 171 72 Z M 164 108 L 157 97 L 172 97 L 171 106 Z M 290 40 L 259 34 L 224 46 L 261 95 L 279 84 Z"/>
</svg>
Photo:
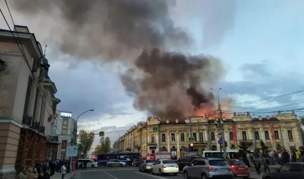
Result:
<svg viewBox="0 0 304 179">
<path fill-rule="evenodd" d="M 249 168 L 242 160 L 227 160 L 234 177 L 249 178 Z"/>
</svg>

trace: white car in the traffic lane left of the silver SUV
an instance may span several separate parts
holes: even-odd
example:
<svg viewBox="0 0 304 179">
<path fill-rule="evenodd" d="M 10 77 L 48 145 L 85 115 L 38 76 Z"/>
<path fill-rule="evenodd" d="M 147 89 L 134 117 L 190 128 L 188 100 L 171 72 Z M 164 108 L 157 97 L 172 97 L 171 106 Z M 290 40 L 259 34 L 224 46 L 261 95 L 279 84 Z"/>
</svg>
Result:
<svg viewBox="0 0 304 179">
<path fill-rule="evenodd" d="M 152 166 L 151 173 L 158 173 L 159 175 L 172 173 L 176 176 L 178 173 L 178 165 L 173 160 L 158 160 Z"/>
</svg>

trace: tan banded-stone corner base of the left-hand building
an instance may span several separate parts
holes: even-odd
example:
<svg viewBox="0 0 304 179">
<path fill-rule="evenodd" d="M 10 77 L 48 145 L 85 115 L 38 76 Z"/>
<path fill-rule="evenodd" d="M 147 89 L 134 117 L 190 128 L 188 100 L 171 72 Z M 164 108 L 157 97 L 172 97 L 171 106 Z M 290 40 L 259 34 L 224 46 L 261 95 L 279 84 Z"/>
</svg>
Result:
<svg viewBox="0 0 304 179">
<path fill-rule="evenodd" d="M 14 120 L 0 120 L 0 178 L 15 178 L 20 127 Z"/>
</svg>

